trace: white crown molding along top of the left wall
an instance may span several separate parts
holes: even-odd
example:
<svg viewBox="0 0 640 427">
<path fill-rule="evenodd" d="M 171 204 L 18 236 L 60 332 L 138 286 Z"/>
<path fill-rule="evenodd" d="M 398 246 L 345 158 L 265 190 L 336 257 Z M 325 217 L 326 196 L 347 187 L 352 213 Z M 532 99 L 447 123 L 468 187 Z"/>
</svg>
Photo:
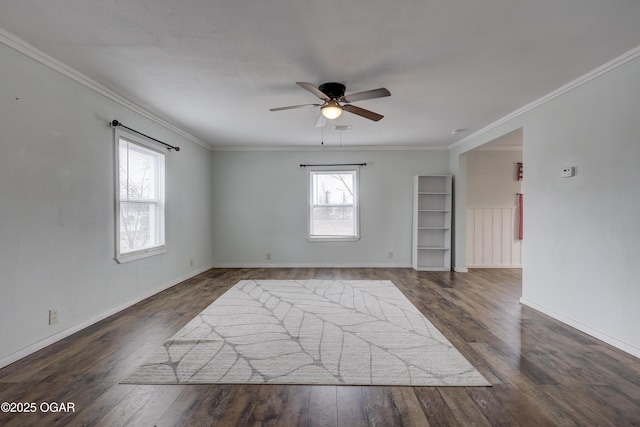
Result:
<svg viewBox="0 0 640 427">
<path fill-rule="evenodd" d="M 30 45 L 29 43 L 27 43 L 26 41 L 16 37 L 15 35 L 9 33 L 8 31 L 0 28 L 0 43 L 20 52 L 21 54 L 33 59 L 36 62 L 39 62 L 40 64 L 51 68 L 54 71 L 57 71 L 58 73 L 70 78 L 71 80 L 75 81 L 76 83 L 79 83 L 97 93 L 99 93 L 100 95 L 103 95 L 105 97 L 107 97 L 108 99 L 122 105 L 123 107 L 133 111 L 136 114 L 139 114 L 143 117 L 145 117 L 146 119 L 151 120 L 154 123 L 159 124 L 160 126 L 170 130 L 173 133 L 176 133 L 186 139 L 188 139 L 191 142 L 194 142 L 208 150 L 211 150 L 211 146 L 209 144 L 204 143 L 203 141 L 200 141 L 198 138 L 194 137 L 193 135 L 189 134 L 188 132 L 180 129 L 178 126 L 158 117 L 157 115 L 151 113 L 150 111 L 145 110 L 144 108 L 134 104 L 133 102 L 129 101 L 128 99 L 118 95 L 117 93 L 115 93 L 114 91 L 108 89 L 107 87 L 101 85 L 100 83 L 96 82 L 95 80 L 90 79 L 89 77 L 87 77 L 86 75 L 82 74 L 81 72 L 79 72 L 78 70 L 69 67 L 66 64 L 63 64 L 62 62 L 58 61 L 57 59 L 47 55 L 46 53 L 42 52 L 41 50 L 37 49 L 35 46 Z"/>
</svg>

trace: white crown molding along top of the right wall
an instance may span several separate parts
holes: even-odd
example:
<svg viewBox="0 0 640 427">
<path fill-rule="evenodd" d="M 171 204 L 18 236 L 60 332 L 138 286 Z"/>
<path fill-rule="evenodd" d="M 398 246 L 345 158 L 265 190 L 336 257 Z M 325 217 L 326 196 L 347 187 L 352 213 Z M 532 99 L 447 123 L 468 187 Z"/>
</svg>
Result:
<svg viewBox="0 0 640 427">
<path fill-rule="evenodd" d="M 456 147 L 459 147 L 469 141 L 474 140 L 475 138 L 479 137 L 482 134 L 485 134 L 487 132 L 489 132 L 492 129 L 497 128 L 498 126 L 501 126 L 505 123 L 507 123 L 510 120 L 513 120 L 514 118 L 518 117 L 518 116 L 522 116 L 523 114 L 533 110 L 534 108 L 537 108 L 543 104 L 546 104 L 549 101 L 552 101 L 553 99 L 564 95 L 565 93 L 576 89 L 586 83 L 589 83 L 591 80 L 598 78 L 604 74 L 607 74 L 610 71 L 615 70 L 618 67 L 623 66 L 624 64 L 633 61 L 634 59 L 640 58 L 640 46 L 637 46 L 633 49 L 631 49 L 628 52 L 623 53 L 622 55 L 618 56 L 615 59 L 612 59 L 611 61 L 607 62 L 604 65 L 601 65 L 600 67 L 596 68 L 595 70 L 592 70 L 590 72 L 588 72 L 587 74 L 578 77 L 577 79 L 573 80 L 572 82 L 554 90 L 553 92 L 549 93 L 548 95 L 543 96 L 542 98 L 539 98 L 527 105 L 525 105 L 522 108 L 517 109 L 516 111 L 514 111 L 513 113 L 507 114 L 506 116 L 504 116 L 503 118 L 491 123 L 488 126 L 485 126 L 484 128 L 480 129 L 477 132 L 472 133 L 471 135 L 467 136 L 466 138 L 461 139 L 458 142 L 455 142 L 453 144 L 451 144 L 448 149 L 449 150 L 453 150 Z"/>
</svg>

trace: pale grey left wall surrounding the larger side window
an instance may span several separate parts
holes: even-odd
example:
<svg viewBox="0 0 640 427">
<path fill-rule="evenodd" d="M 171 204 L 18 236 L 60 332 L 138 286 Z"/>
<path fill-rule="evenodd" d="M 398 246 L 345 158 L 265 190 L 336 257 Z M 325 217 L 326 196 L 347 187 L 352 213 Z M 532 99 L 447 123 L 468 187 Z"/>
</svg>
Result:
<svg viewBox="0 0 640 427">
<path fill-rule="evenodd" d="M 208 150 L 3 44 L 0 75 L 2 366 L 207 269 L 212 242 Z M 127 264 L 112 119 L 182 148 L 166 159 L 169 250 Z"/>
</svg>

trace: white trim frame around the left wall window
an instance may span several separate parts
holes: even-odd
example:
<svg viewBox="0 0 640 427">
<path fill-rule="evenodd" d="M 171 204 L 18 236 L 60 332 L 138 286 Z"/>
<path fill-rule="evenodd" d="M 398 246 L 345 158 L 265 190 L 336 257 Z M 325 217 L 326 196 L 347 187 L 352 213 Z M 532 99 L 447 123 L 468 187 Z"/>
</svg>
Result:
<svg viewBox="0 0 640 427">
<path fill-rule="evenodd" d="M 159 171 L 160 177 L 158 178 L 159 191 L 161 197 L 159 198 L 158 203 L 160 204 L 160 240 L 161 243 L 159 245 L 140 249 L 137 251 L 125 252 L 122 253 L 120 250 L 120 140 L 123 139 L 130 143 L 139 145 L 143 148 L 146 148 L 151 151 L 155 151 L 160 154 L 163 158 L 163 166 Z M 127 132 L 120 128 L 114 129 L 114 154 L 115 154 L 115 170 L 114 170 L 114 178 L 115 178 L 115 187 L 114 187 L 114 199 L 115 199 L 115 259 L 119 264 L 135 261 L 147 257 L 151 257 L 154 255 L 159 255 L 167 252 L 167 242 L 166 242 L 166 149 L 160 144 L 151 141 L 150 139 L 135 135 L 131 132 Z"/>
</svg>

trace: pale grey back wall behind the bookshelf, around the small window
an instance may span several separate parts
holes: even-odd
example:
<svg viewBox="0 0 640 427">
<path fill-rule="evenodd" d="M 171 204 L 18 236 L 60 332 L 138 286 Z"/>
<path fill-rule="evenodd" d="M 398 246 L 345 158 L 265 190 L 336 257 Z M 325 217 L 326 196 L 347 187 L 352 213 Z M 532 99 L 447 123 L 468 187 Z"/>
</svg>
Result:
<svg viewBox="0 0 640 427">
<path fill-rule="evenodd" d="M 300 163 L 367 163 L 358 242 L 307 240 L 308 171 Z M 216 266 L 407 267 L 413 176 L 447 173 L 448 152 L 214 152 L 212 165 Z"/>
</svg>

